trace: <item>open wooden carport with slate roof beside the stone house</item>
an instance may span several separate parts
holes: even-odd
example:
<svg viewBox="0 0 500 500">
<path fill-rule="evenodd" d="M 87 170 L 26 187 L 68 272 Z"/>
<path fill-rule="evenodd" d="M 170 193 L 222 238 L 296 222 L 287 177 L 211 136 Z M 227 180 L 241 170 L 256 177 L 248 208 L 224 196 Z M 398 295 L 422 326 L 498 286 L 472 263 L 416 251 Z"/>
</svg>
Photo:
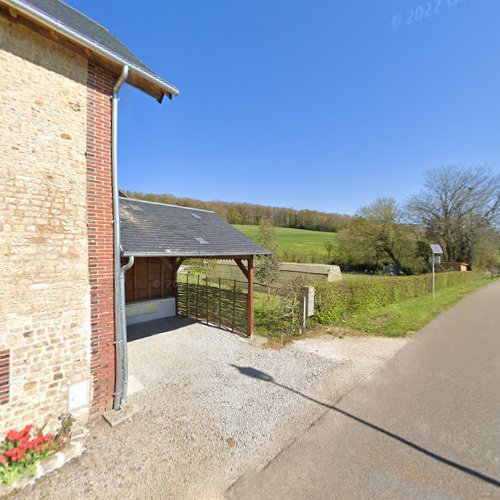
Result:
<svg viewBox="0 0 500 500">
<path fill-rule="evenodd" d="M 120 221 L 128 326 L 181 314 L 253 334 L 253 259 L 270 252 L 207 210 L 121 197 Z M 228 280 L 178 282 L 192 258 L 234 260 L 245 289 Z"/>
</svg>

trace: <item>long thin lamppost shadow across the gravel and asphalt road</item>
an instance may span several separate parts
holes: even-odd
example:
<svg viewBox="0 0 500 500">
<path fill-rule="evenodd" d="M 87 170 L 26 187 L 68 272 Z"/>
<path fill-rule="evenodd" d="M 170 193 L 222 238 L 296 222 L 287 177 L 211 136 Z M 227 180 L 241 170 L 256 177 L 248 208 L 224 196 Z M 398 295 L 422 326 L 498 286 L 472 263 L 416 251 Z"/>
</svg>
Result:
<svg viewBox="0 0 500 500">
<path fill-rule="evenodd" d="M 290 391 L 290 392 L 293 392 L 294 394 L 302 396 L 303 398 L 305 398 L 309 401 L 312 401 L 313 403 L 316 403 L 316 404 L 321 405 L 325 408 L 328 408 L 329 410 L 336 411 L 337 413 L 340 413 L 341 415 L 344 415 L 352 420 L 355 420 L 356 422 L 358 422 L 366 427 L 369 427 L 370 429 L 373 429 L 377 432 L 381 432 L 385 436 L 388 436 L 392 439 L 395 439 L 396 441 L 399 441 L 400 443 L 403 443 L 406 446 L 409 446 L 410 448 L 413 448 L 414 450 L 417 450 L 420 453 L 423 453 L 424 455 L 427 455 L 428 457 L 433 458 L 434 460 L 437 460 L 438 462 L 441 462 L 441 463 L 446 464 L 450 467 L 453 467 L 454 469 L 457 469 L 465 474 L 469 474 L 469 475 L 474 476 L 478 479 L 481 479 L 482 481 L 493 484 L 494 486 L 500 487 L 500 481 L 498 481 L 497 479 L 494 479 L 494 478 L 489 477 L 481 472 L 478 472 L 474 469 L 466 467 L 465 465 L 454 462 L 453 460 L 449 460 L 448 458 L 442 457 L 441 455 L 438 455 L 437 453 L 434 453 L 430 450 L 427 450 L 426 448 L 422 448 L 422 446 L 419 446 L 418 444 L 415 444 L 415 443 L 409 441 L 408 439 L 405 439 L 401 436 L 398 436 L 397 434 L 394 434 L 391 431 L 383 429 L 382 427 L 379 427 L 378 425 L 367 422 L 366 420 L 363 420 L 362 418 L 357 417 L 356 415 L 353 415 L 352 413 L 349 413 L 345 410 L 342 410 L 341 408 L 338 408 L 336 406 L 333 406 L 333 405 L 330 405 L 327 403 L 323 403 L 322 401 L 318 401 L 317 399 L 311 398 L 307 394 L 303 394 L 302 392 L 299 392 L 299 391 L 293 389 L 292 387 L 288 387 L 286 385 L 280 384 L 279 382 L 276 382 L 274 380 L 274 378 L 271 377 L 271 375 L 268 375 L 265 372 L 262 372 L 260 370 L 255 369 L 255 368 L 252 368 L 250 366 L 237 366 L 237 365 L 233 365 L 233 364 L 231 364 L 230 366 L 232 366 L 233 368 L 236 368 L 236 370 L 238 370 L 242 375 L 246 375 L 247 377 L 252 377 L 252 378 L 255 378 L 257 380 L 261 380 L 263 382 L 270 382 L 270 383 L 276 385 L 277 387 L 281 387 L 282 389 L 286 389 L 287 391 Z"/>
</svg>

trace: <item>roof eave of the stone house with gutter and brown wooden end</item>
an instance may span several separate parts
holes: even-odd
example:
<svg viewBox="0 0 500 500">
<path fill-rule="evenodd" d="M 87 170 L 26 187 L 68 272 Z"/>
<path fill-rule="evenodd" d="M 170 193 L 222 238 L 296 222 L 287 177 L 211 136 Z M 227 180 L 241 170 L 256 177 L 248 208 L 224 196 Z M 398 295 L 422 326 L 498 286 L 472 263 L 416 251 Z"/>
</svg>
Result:
<svg viewBox="0 0 500 500">
<path fill-rule="evenodd" d="M 64 24 L 58 22 L 56 19 L 40 12 L 29 5 L 24 4 L 19 0 L 1 0 L 2 3 L 6 4 L 8 7 L 17 10 L 22 15 L 28 17 L 32 21 L 41 24 L 48 28 L 49 30 L 55 31 L 68 39 L 73 43 L 84 47 L 98 54 L 100 57 L 123 67 L 125 65 L 130 68 L 130 78 L 128 83 L 142 90 L 143 92 L 155 97 L 159 102 L 162 101 L 163 96 L 166 95 L 170 99 L 173 96 L 179 95 L 179 89 L 170 85 L 168 82 L 162 80 L 161 78 L 151 75 L 147 71 L 135 66 L 134 64 L 124 60 L 117 54 L 107 50 L 101 45 L 89 40 L 87 37 L 80 35 L 71 28 L 65 26 Z M 141 80 L 145 80 L 149 85 L 141 84 Z"/>
</svg>

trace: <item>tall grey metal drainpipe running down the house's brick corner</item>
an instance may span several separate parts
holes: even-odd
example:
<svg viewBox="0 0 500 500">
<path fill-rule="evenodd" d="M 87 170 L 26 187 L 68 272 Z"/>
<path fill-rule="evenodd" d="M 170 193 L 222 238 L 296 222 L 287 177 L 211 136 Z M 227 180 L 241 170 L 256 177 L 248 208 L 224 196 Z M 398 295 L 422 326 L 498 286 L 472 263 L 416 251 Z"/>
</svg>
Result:
<svg viewBox="0 0 500 500">
<path fill-rule="evenodd" d="M 120 197 L 118 193 L 118 92 L 125 83 L 129 67 L 123 66 L 122 73 L 113 87 L 113 99 L 111 101 L 111 165 L 113 177 L 113 217 L 114 217 L 114 285 L 115 285 L 115 397 L 113 409 L 119 410 L 123 397 L 125 381 L 125 365 L 127 365 L 127 333 L 126 324 L 122 319 L 125 297 L 121 289 L 121 249 L 120 249 Z M 133 262 L 132 262 L 133 264 Z M 126 394 L 126 392 L 125 392 Z"/>
</svg>

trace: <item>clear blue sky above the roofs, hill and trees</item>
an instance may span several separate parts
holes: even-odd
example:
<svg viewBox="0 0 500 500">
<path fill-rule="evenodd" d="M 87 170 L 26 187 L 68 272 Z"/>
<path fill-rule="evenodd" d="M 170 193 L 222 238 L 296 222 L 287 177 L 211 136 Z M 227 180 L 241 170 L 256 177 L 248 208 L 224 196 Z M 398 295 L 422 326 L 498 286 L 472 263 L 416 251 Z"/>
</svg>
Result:
<svg viewBox="0 0 500 500">
<path fill-rule="evenodd" d="M 498 0 L 69 3 L 181 89 L 122 92 L 123 188 L 354 213 L 500 168 Z"/>
</svg>

